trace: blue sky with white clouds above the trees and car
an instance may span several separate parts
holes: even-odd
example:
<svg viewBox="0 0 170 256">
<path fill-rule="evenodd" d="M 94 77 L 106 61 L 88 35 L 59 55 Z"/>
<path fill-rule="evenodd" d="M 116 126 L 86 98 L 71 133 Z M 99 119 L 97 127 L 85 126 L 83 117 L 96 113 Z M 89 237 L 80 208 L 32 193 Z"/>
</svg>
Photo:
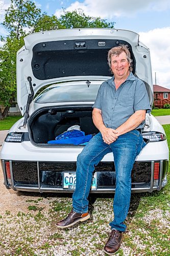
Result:
<svg viewBox="0 0 170 256">
<path fill-rule="evenodd" d="M 59 17 L 63 12 L 62 8 L 66 11 L 81 8 L 86 15 L 115 22 L 115 29 L 138 33 L 139 40 L 151 52 L 153 83 L 170 89 L 169 0 L 36 0 L 33 2 L 48 15 L 55 14 Z M 0 22 L 4 17 L 2 9 L 8 8 L 9 5 L 10 0 L 0 0 Z M 2 26 L 0 26 L 0 34 L 6 34 Z"/>
</svg>

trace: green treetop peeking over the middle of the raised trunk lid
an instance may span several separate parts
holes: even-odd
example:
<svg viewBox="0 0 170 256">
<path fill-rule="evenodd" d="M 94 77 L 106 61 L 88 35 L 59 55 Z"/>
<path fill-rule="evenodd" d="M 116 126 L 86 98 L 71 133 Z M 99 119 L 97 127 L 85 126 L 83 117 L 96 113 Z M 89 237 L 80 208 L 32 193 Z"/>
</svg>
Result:
<svg viewBox="0 0 170 256">
<path fill-rule="evenodd" d="M 107 22 L 100 17 L 86 16 L 82 9 L 65 11 L 59 18 L 60 24 L 66 29 L 72 28 L 114 28 L 114 22 Z"/>
</svg>

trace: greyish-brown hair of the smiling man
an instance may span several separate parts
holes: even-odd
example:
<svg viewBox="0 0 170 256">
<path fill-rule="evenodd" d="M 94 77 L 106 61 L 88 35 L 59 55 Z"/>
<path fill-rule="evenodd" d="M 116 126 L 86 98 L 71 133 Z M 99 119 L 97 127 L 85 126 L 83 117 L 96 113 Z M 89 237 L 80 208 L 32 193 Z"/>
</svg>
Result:
<svg viewBox="0 0 170 256">
<path fill-rule="evenodd" d="M 133 68 L 132 68 L 133 60 L 131 59 L 131 54 L 130 54 L 130 51 L 129 51 L 127 45 L 120 45 L 120 46 L 117 46 L 117 47 L 113 47 L 112 49 L 109 50 L 109 52 L 108 52 L 108 64 L 109 64 L 110 70 L 111 70 L 111 57 L 113 55 L 119 56 L 120 53 L 122 53 L 122 52 L 126 53 L 127 60 L 130 63 L 129 70 L 130 71 L 133 70 Z M 112 72 L 112 70 L 111 70 L 111 72 Z"/>
</svg>

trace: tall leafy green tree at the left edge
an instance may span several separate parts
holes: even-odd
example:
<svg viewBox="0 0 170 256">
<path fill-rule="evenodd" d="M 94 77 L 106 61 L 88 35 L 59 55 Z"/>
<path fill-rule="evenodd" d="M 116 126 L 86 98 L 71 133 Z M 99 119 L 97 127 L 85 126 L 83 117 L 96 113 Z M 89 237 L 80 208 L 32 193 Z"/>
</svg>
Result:
<svg viewBox="0 0 170 256">
<path fill-rule="evenodd" d="M 30 0 L 12 0 L 6 10 L 3 25 L 8 31 L 1 37 L 0 60 L 0 120 L 8 114 L 13 97 L 16 96 L 16 53 L 23 46 L 23 37 L 32 33 L 42 17 L 41 10 Z"/>
</svg>

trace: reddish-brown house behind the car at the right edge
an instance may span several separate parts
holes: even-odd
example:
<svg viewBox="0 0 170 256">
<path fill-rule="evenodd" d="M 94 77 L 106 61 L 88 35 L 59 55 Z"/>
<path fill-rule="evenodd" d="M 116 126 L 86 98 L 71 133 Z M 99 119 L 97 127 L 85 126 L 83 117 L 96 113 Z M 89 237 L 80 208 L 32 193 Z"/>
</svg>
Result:
<svg viewBox="0 0 170 256">
<path fill-rule="evenodd" d="M 170 104 L 170 90 L 154 85 L 154 106 L 161 109 L 164 104 Z"/>
</svg>

